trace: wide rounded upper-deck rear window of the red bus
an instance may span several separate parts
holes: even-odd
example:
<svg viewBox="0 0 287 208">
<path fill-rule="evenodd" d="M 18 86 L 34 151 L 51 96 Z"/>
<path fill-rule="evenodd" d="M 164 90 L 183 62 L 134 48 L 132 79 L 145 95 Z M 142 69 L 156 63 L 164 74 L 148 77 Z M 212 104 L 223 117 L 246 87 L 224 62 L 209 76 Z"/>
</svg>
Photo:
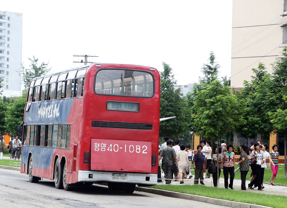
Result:
<svg viewBox="0 0 287 208">
<path fill-rule="evenodd" d="M 95 93 L 151 97 L 154 94 L 154 79 L 148 72 L 104 69 L 96 74 Z"/>
</svg>

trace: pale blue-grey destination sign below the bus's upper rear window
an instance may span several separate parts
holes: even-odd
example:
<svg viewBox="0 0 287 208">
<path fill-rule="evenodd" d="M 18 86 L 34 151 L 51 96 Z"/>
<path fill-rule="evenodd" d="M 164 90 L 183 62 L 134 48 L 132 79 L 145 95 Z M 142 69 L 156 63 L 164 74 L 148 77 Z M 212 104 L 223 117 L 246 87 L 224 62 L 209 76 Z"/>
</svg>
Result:
<svg viewBox="0 0 287 208">
<path fill-rule="evenodd" d="M 107 110 L 138 112 L 139 103 L 107 101 Z"/>
</svg>

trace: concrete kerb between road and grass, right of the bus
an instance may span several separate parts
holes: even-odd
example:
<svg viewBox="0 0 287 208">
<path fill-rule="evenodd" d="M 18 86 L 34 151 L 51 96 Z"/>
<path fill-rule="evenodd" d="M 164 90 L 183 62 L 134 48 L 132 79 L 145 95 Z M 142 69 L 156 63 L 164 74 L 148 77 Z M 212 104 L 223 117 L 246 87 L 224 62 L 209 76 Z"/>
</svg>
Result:
<svg viewBox="0 0 287 208">
<path fill-rule="evenodd" d="M 262 205 L 257 204 L 247 204 L 247 203 L 241 203 L 237 201 L 227 201 L 223 199 L 213 199 L 206 196 L 197 196 L 192 194 L 182 194 L 178 192 L 173 191 L 165 191 L 160 189 L 154 189 L 154 188 L 145 188 L 145 187 L 136 187 L 136 191 L 142 191 L 147 192 L 150 194 L 158 194 L 162 196 L 167 197 L 173 197 L 173 198 L 179 198 L 179 199 L 187 199 L 187 200 L 193 200 L 193 201 L 200 201 L 205 202 L 209 204 L 215 204 L 219 206 L 225 206 L 225 207 L 233 207 L 233 208 L 270 208 Z"/>
</svg>

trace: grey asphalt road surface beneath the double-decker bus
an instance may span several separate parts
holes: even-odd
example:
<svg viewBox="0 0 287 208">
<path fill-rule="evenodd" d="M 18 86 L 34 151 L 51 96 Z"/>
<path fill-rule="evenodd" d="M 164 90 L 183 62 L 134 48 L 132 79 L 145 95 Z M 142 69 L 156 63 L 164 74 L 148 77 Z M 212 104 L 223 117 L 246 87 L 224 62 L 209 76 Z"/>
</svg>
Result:
<svg viewBox="0 0 287 208">
<path fill-rule="evenodd" d="M 139 191 L 135 191 L 133 194 L 114 193 L 110 192 L 106 186 L 96 184 L 83 186 L 75 191 L 64 191 L 56 189 L 54 181 L 44 179 L 39 183 L 30 183 L 28 175 L 5 169 L 0 169 L 0 194 L 0 207 L 223 208 L 198 201 L 169 198 Z"/>
</svg>

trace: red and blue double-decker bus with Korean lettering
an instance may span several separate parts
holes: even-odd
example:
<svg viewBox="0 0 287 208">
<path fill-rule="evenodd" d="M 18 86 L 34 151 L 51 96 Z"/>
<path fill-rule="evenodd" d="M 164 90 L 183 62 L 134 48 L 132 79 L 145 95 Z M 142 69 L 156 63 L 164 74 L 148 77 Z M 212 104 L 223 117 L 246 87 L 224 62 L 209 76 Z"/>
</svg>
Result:
<svg viewBox="0 0 287 208">
<path fill-rule="evenodd" d="M 92 64 L 34 78 L 25 106 L 21 173 L 30 182 L 157 184 L 160 77 L 155 68 Z"/>
</svg>

